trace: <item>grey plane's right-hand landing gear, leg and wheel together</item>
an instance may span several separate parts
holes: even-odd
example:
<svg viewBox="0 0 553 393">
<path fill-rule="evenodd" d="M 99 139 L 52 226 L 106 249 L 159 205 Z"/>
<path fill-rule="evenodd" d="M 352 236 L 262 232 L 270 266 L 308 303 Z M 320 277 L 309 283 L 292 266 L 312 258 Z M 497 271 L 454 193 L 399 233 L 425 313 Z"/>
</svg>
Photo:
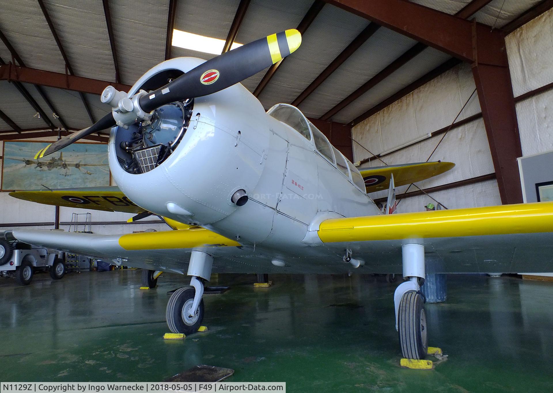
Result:
<svg viewBox="0 0 553 393">
<path fill-rule="evenodd" d="M 406 244 L 401 247 L 403 277 L 394 293 L 395 328 L 401 353 L 407 359 L 424 359 L 428 349 L 428 331 L 424 298 L 420 284 L 424 283 L 424 246 Z"/>
</svg>

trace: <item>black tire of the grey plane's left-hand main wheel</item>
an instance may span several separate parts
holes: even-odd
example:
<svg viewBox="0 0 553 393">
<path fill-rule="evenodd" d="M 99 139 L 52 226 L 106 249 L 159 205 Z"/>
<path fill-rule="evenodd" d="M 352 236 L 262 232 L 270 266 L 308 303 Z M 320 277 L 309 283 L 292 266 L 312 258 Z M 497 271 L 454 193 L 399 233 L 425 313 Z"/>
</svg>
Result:
<svg viewBox="0 0 553 393">
<path fill-rule="evenodd" d="M 196 290 L 191 286 L 179 288 L 173 292 L 167 302 L 165 310 L 165 320 L 169 330 L 173 333 L 192 334 L 198 331 L 204 320 L 204 299 L 200 301 L 198 306 L 198 318 L 195 323 L 189 325 L 182 319 L 182 307 L 190 299 L 194 299 Z"/>
</svg>

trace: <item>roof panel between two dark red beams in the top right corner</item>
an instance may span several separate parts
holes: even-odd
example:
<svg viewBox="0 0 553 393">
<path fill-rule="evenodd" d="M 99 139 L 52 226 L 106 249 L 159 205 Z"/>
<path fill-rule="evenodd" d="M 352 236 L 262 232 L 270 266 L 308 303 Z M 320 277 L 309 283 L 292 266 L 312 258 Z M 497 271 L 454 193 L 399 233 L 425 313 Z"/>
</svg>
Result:
<svg viewBox="0 0 553 393">
<path fill-rule="evenodd" d="M 474 14 L 474 18 L 477 22 L 499 28 L 538 3 L 541 3 L 541 0 L 493 0 Z"/>
</svg>

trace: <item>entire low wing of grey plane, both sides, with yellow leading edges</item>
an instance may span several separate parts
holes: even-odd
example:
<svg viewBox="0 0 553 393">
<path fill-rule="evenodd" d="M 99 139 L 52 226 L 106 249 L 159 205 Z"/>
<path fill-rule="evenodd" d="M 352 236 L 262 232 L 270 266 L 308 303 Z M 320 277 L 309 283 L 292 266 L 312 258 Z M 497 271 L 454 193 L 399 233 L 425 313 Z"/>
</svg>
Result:
<svg viewBox="0 0 553 393">
<path fill-rule="evenodd" d="M 401 273 L 401 245 L 413 242 L 425 246 L 427 273 L 553 272 L 553 202 L 328 219 L 312 231 L 318 241 L 289 247 L 288 257 L 279 253 L 285 267 L 271 264 L 276 254 L 259 246 L 197 227 L 127 235 L 16 229 L 5 236 L 175 273 L 186 272 L 192 249 L 213 256 L 214 273 Z M 364 266 L 343 263 L 346 249 Z"/>
</svg>

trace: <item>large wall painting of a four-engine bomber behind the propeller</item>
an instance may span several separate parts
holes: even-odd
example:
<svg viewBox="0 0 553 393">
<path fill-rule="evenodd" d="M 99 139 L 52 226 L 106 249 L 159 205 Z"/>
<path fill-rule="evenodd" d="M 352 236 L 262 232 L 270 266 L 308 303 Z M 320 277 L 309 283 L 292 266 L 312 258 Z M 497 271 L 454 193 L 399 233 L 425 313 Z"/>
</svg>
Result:
<svg viewBox="0 0 553 393">
<path fill-rule="evenodd" d="M 2 190 L 103 187 L 109 185 L 107 144 L 74 143 L 43 158 L 51 142 L 4 141 Z"/>
</svg>

